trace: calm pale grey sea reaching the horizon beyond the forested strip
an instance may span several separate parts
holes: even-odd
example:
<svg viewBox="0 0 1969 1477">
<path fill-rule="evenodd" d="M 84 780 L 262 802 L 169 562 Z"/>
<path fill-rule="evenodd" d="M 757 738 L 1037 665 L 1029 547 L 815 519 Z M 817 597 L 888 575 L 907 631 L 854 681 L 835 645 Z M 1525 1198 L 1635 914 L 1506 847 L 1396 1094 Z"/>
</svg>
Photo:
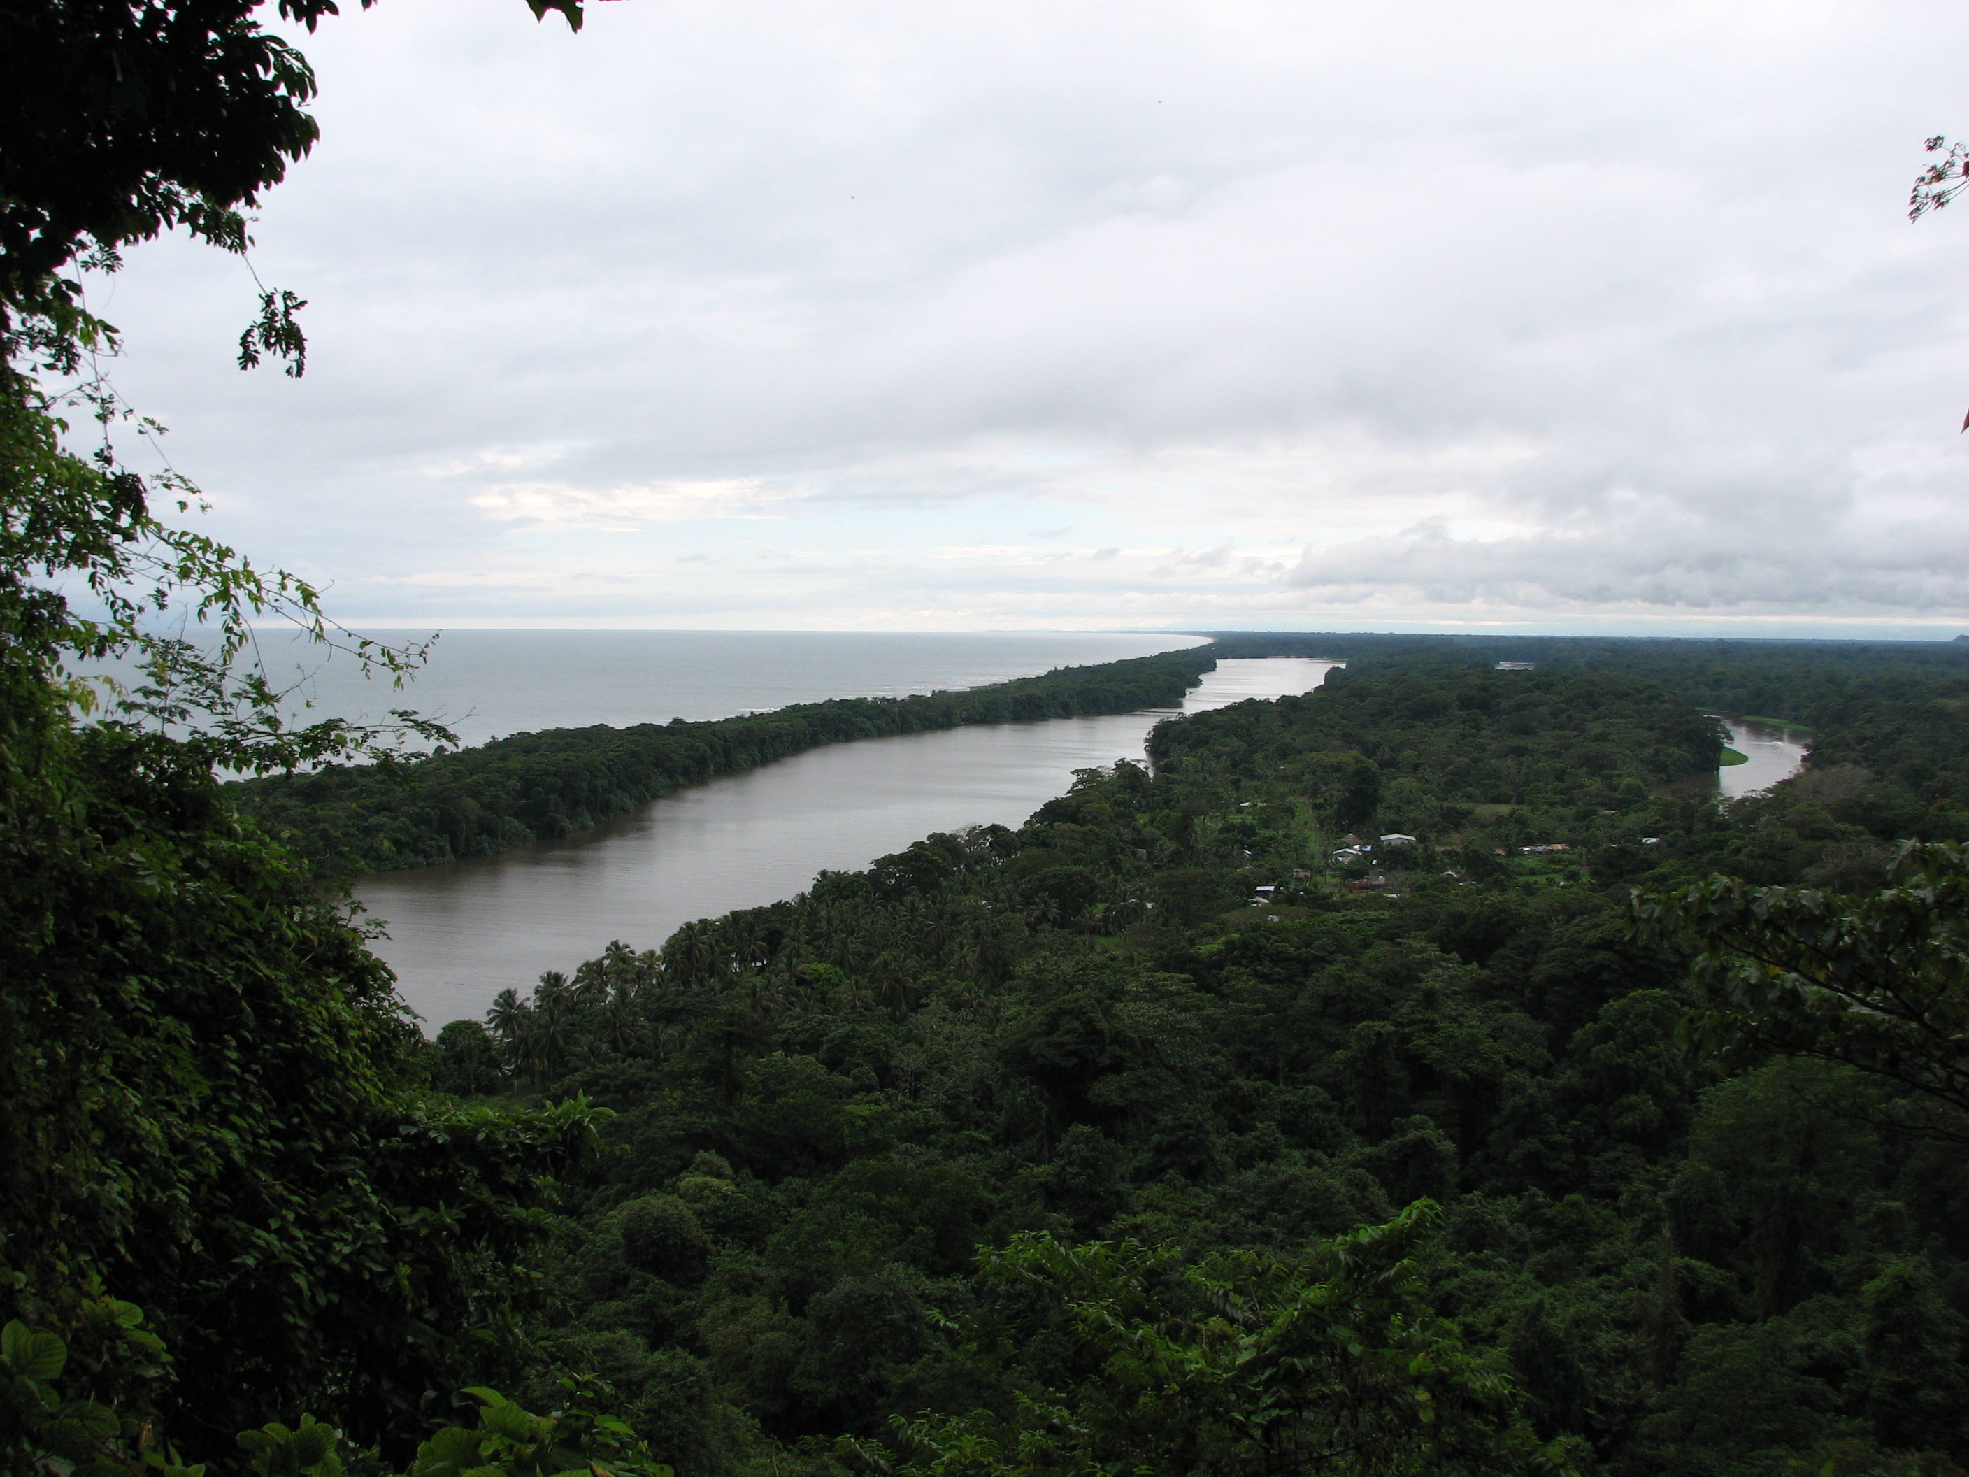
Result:
<svg viewBox="0 0 1969 1477">
<path fill-rule="evenodd" d="M 404 642 L 413 632 L 364 632 Z M 276 689 L 313 717 L 382 719 L 415 709 L 467 744 L 510 733 L 669 719 L 725 719 L 827 697 L 908 697 L 983 687 L 1063 666 L 1199 646 L 1201 636 L 1116 632 L 839 630 L 451 630 L 404 691 L 364 681 L 347 656 L 321 658 L 262 632 Z"/>
</svg>

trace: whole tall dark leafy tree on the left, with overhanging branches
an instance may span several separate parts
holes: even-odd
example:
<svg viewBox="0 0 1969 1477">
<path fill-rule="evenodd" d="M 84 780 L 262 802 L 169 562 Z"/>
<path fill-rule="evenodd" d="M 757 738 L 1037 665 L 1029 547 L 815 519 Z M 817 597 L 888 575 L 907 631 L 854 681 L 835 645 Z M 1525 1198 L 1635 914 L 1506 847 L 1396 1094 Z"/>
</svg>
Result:
<svg viewBox="0 0 1969 1477">
<path fill-rule="evenodd" d="M 122 1294 L 173 1343 L 159 1398 L 187 1434 L 333 1402 L 374 1442 L 498 1361 L 553 1174 L 603 1115 L 425 1095 L 388 969 L 215 768 L 441 731 L 287 727 L 232 666 L 270 614 L 335 640 L 315 591 L 161 522 L 158 490 L 179 512 L 195 490 L 122 469 L 106 429 L 79 455 L 63 419 L 128 417 L 77 270 L 173 226 L 242 252 L 240 213 L 315 138 L 311 93 L 250 0 L 0 2 L 0 1316 Z M 299 374 L 297 305 L 262 299 L 242 362 Z M 179 610 L 217 642 L 159 636 Z M 110 654 L 144 675 L 102 703 L 73 666 Z"/>
</svg>

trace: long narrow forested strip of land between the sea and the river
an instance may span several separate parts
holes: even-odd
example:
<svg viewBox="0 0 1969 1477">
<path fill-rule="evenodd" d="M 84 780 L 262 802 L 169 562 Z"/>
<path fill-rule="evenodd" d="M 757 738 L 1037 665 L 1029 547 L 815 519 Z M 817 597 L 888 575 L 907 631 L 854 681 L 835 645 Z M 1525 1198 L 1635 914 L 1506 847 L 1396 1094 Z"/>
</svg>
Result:
<svg viewBox="0 0 1969 1477">
<path fill-rule="evenodd" d="M 679 786 L 821 744 L 1175 707 L 1213 666 L 1209 648 L 1191 648 L 971 691 L 843 697 L 709 723 L 549 729 L 413 764 L 250 780 L 238 786 L 238 803 L 327 865 L 372 872 L 429 867 L 585 831 Z"/>
</svg>

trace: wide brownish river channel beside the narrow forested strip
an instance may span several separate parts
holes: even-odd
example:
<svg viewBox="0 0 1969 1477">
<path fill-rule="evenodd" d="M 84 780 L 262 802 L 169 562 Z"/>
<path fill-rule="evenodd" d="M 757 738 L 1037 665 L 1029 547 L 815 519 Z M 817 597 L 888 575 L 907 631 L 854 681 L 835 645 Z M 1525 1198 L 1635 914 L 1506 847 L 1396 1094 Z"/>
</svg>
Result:
<svg viewBox="0 0 1969 1477">
<path fill-rule="evenodd" d="M 1303 693 L 1335 664 L 1219 662 L 1185 713 Z M 813 748 L 664 796 L 579 837 L 449 867 L 382 872 L 356 888 L 388 924 L 380 953 L 435 1028 L 478 1016 L 545 969 L 571 971 L 608 939 L 656 947 L 693 918 L 803 890 L 931 831 L 1022 825 L 1073 770 L 1142 758 L 1170 713 L 988 723 Z"/>
</svg>

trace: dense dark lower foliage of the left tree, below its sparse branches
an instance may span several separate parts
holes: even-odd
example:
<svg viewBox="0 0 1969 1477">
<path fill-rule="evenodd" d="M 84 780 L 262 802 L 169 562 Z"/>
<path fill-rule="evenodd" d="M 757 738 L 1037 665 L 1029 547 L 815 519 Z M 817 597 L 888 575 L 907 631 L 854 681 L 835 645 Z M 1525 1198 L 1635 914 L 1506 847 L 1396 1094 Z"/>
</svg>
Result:
<svg viewBox="0 0 1969 1477">
<path fill-rule="evenodd" d="M 142 1302 L 181 1426 L 333 1400 L 374 1440 L 510 1323 L 595 1115 L 427 1099 L 388 971 L 211 760 L 32 697 L 4 715 L 0 1302 Z"/>
</svg>

